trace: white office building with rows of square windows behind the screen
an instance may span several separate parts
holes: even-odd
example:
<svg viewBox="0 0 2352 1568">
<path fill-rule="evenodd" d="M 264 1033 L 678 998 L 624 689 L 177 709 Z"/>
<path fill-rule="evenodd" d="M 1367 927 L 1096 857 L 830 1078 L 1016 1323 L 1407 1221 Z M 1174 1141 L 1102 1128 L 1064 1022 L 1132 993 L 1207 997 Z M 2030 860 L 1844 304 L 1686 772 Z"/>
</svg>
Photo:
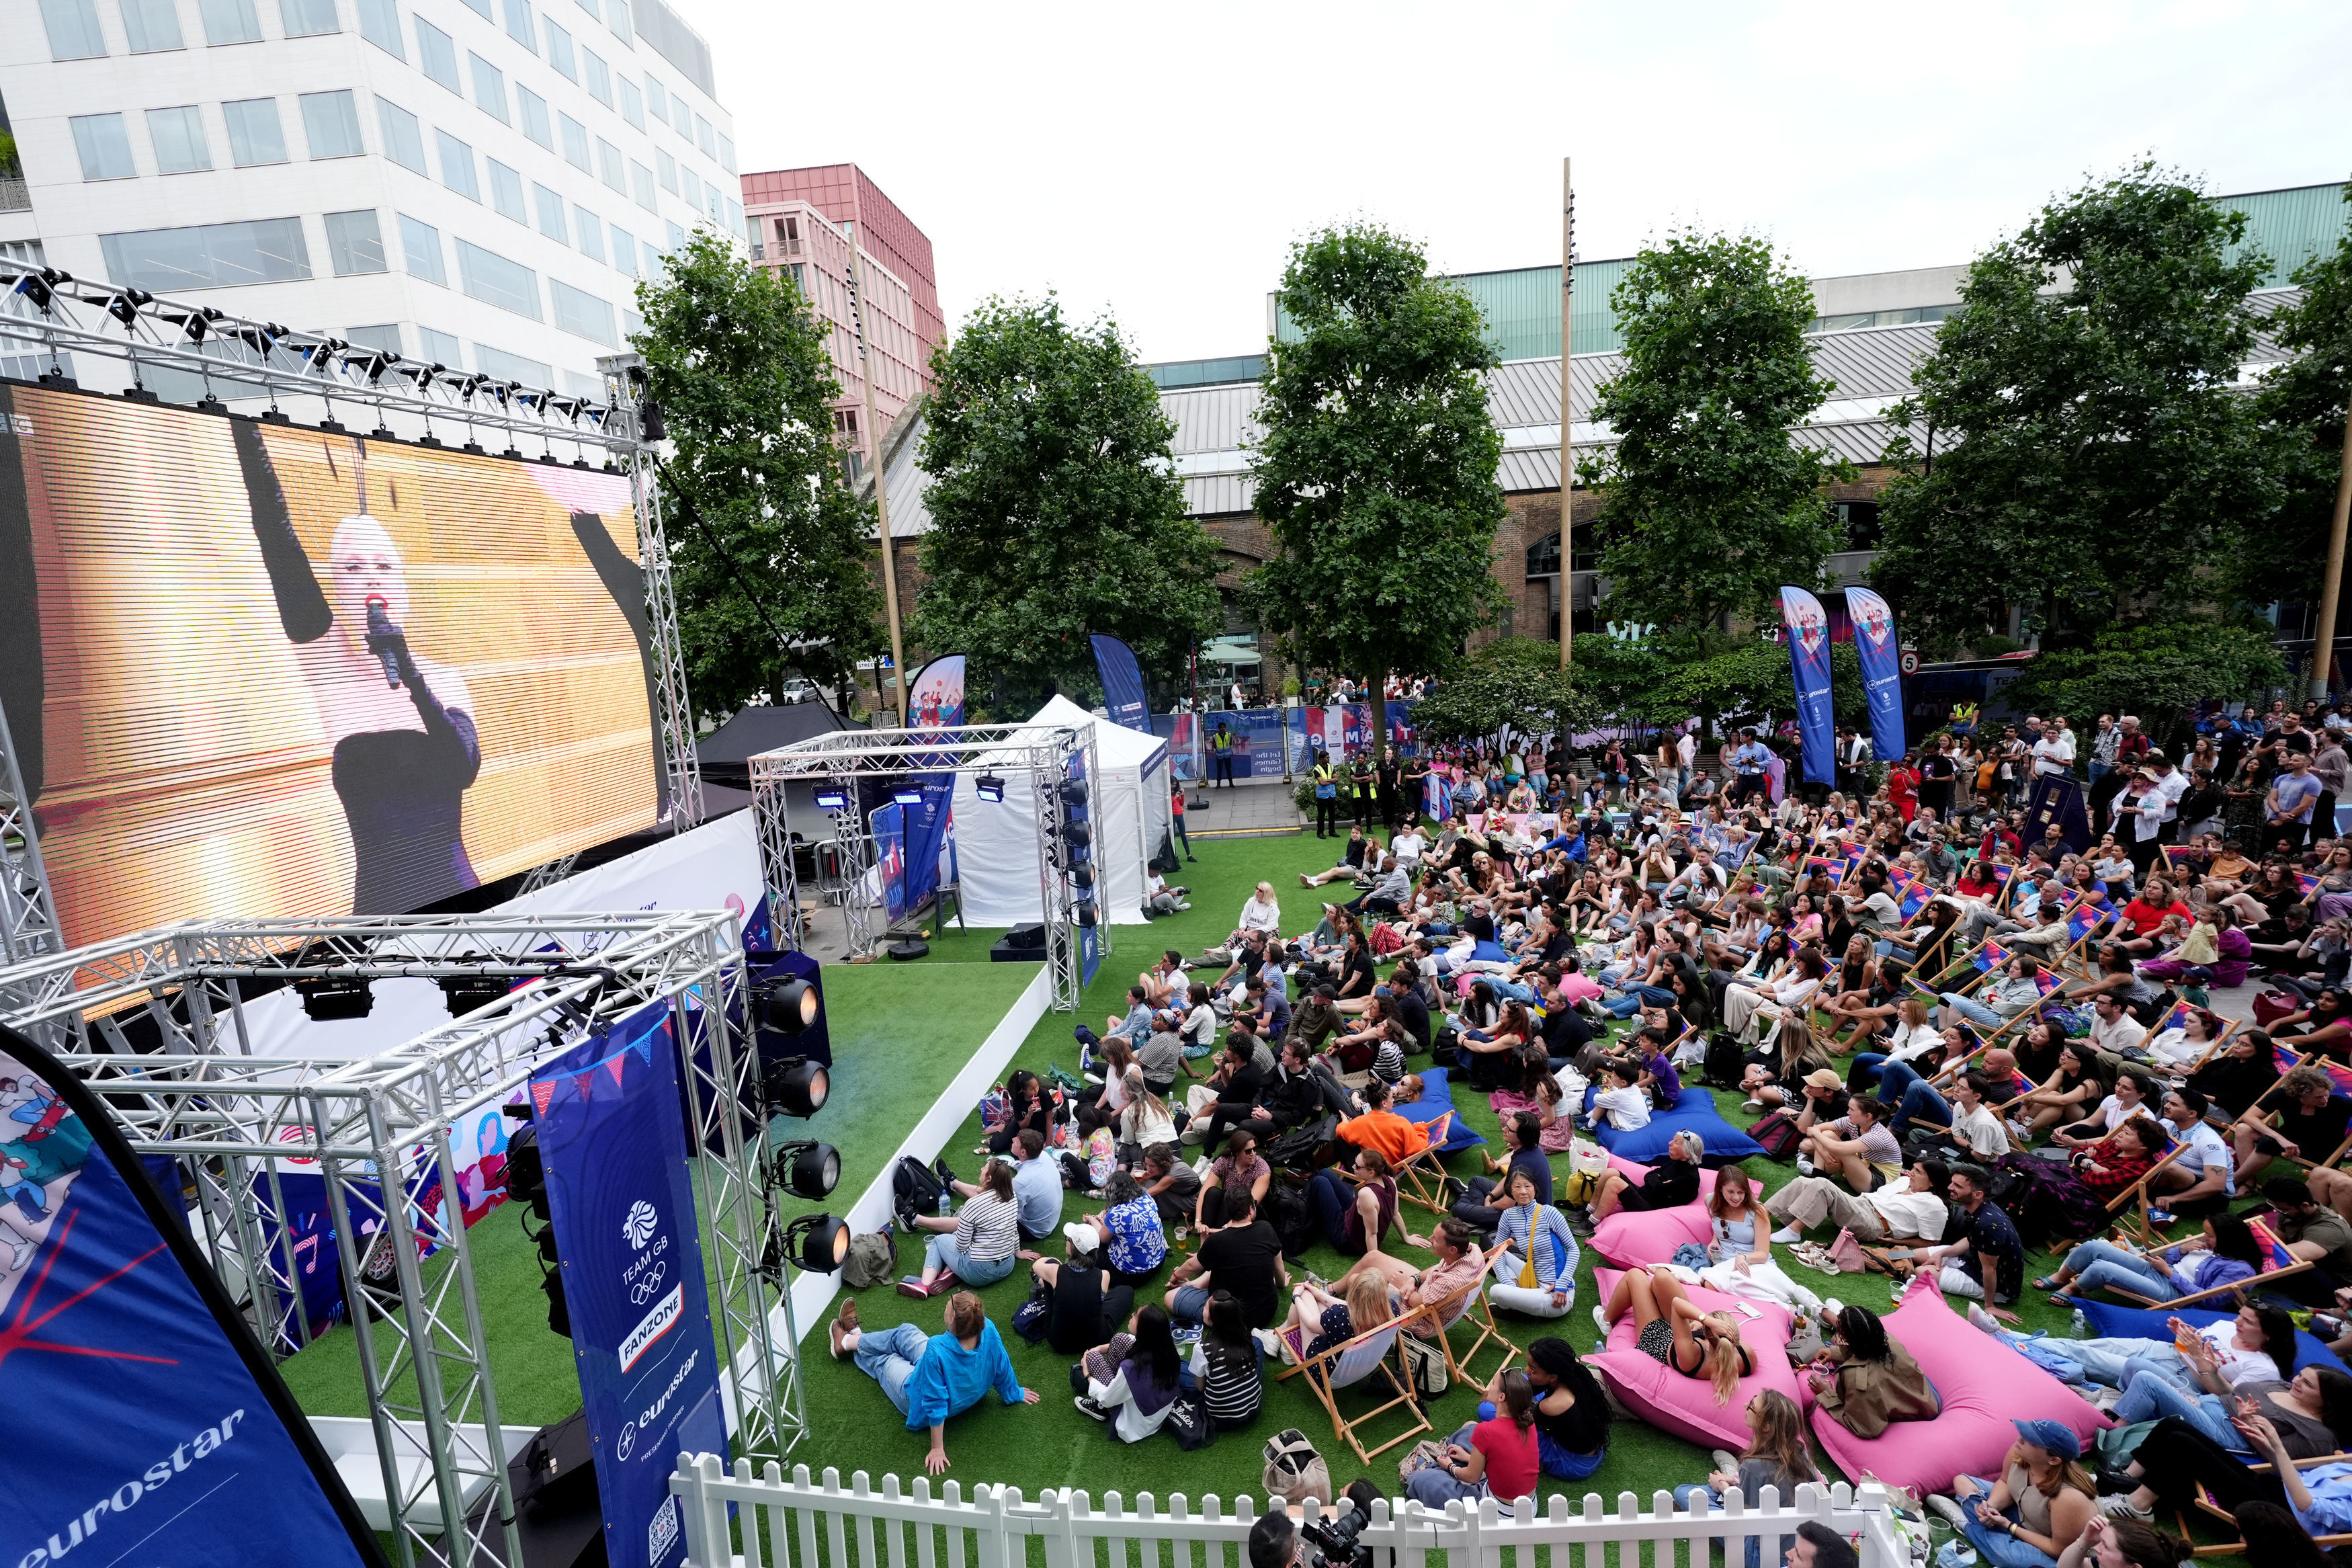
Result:
<svg viewBox="0 0 2352 1568">
<path fill-rule="evenodd" d="M 663 0 L 5 9 L 0 261 L 595 393 L 637 277 L 743 235 L 710 47 Z"/>
</svg>

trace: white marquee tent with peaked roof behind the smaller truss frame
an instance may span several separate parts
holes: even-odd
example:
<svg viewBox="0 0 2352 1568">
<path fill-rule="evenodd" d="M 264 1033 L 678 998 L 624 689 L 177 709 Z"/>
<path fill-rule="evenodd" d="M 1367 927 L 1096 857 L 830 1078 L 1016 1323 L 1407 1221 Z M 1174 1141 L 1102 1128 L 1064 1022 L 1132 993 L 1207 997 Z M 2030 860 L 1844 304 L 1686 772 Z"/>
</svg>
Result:
<svg viewBox="0 0 2352 1568">
<path fill-rule="evenodd" d="M 1094 733 L 1101 771 L 1087 799 L 1087 820 L 1094 827 L 1094 886 L 1110 924 L 1141 926 L 1143 875 L 1162 842 L 1174 837 L 1167 741 L 1098 719 L 1065 696 L 1051 698 L 1030 724 L 1068 724 L 1080 733 Z M 1035 816 L 1037 799 L 1028 773 L 1004 773 L 1002 802 L 981 799 L 971 773 L 957 776 L 955 863 L 969 924 L 1018 926 L 1044 914 Z"/>
</svg>

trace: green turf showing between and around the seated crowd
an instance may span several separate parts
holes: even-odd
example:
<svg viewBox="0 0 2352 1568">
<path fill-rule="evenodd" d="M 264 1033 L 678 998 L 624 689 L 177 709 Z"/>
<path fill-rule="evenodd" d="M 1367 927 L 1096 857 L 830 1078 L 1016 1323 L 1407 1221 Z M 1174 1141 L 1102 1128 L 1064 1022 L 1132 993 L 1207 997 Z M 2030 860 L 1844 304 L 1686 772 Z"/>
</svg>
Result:
<svg viewBox="0 0 2352 1568">
<path fill-rule="evenodd" d="M 1249 898 L 1251 886 L 1256 886 L 1261 877 L 1275 882 L 1282 893 L 1284 931 L 1298 931 L 1303 924 L 1310 924 L 1303 917 L 1308 917 L 1327 893 L 1301 889 L 1298 872 L 1324 870 L 1338 858 L 1336 846 L 1317 842 L 1312 832 L 1296 837 L 1197 842 L 1195 853 L 1200 856 L 1197 865 L 1185 865 L 1178 877 L 1178 882 L 1192 886 L 1190 912 L 1164 917 L 1150 926 L 1115 929 L 1120 950 L 1103 961 L 1101 973 L 1096 973 L 1096 980 L 1084 997 L 1084 1018 L 1096 1030 L 1101 1030 L 1105 1013 L 1124 1011 L 1127 987 L 1162 947 L 1178 947 L 1185 954 L 1192 954 L 1209 943 L 1223 940 L 1242 910 L 1242 900 Z M 1338 886 L 1341 884 L 1331 884 L 1329 891 L 1336 893 Z M 957 933 L 950 929 L 931 940 L 929 959 L 910 964 L 908 969 L 920 971 L 927 964 L 971 957 L 976 950 L 993 943 L 995 936 L 995 931 Z M 1007 969 L 1011 966 L 1007 964 Z M 1058 1063 L 1063 1067 L 1077 1065 L 1077 1044 L 1070 1037 L 1068 1013 L 1047 1013 L 1016 1056 L 1016 1065 L 1033 1070 L 1042 1070 L 1047 1063 Z M 1738 1110 L 1738 1095 L 1719 1093 L 1717 1103 L 1736 1126 L 1755 1121 L 1755 1117 Z M 1501 1143 L 1501 1126 L 1486 1107 L 1486 1095 L 1465 1091 L 1456 1095 L 1456 1107 L 1470 1126 L 1489 1138 L 1491 1145 Z M 971 1147 L 978 1138 L 978 1117 L 971 1117 L 950 1140 L 948 1161 L 957 1166 L 960 1175 L 969 1175 L 971 1166 L 978 1164 L 971 1157 Z M 1477 1161 L 1479 1152 L 1470 1150 L 1456 1154 L 1451 1164 L 1461 1175 L 1475 1175 L 1479 1171 Z M 1780 1166 L 1769 1159 L 1752 1159 L 1748 1166 L 1766 1190 L 1780 1187 L 1795 1175 L 1795 1166 Z M 1084 1208 L 1089 1206 L 1073 1194 L 1063 1215 L 1075 1218 Z M 1425 1234 L 1432 1215 L 1406 1208 L 1406 1220 L 1416 1232 Z M 1414 1248 L 1404 1248 L 1404 1253 L 1414 1255 Z M 1595 1260 L 1592 1248 L 1585 1246 L 1583 1262 L 1576 1272 L 1576 1307 L 1569 1316 L 1538 1324 L 1534 1319 L 1512 1319 L 1510 1314 L 1498 1312 L 1496 1321 L 1503 1324 L 1503 1331 L 1522 1347 L 1531 1338 L 1550 1333 L 1566 1338 L 1578 1349 L 1592 1349 L 1599 1338 L 1590 1314 L 1590 1307 L 1597 1300 L 1592 1293 Z M 1809 1274 L 1788 1260 L 1785 1251 L 1780 1262 L 1823 1295 L 1839 1295 L 1842 1300 L 1867 1305 L 1872 1309 L 1886 1309 L 1891 1305 L 1889 1281 L 1879 1274 Z M 1324 1279 L 1336 1279 L 1348 1267 L 1348 1260 L 1327 1246 L 1317 1246 L 1308 1253 L 1303 1267 L 1322 1274 Z M 2044 1274 L 2049 1269 L 2037 1265 L 2032 1272 Z M 1294 1265 L 1294 1276 L 1296 1274 L 1298 1265 Z M 1007 1338 L 1014 1368 L 1021 1373 L 1023 1385 L 1035 1387 L 1042 1394 L 1042 1401 L 1035 1408 L 1014 1410 L 1000 1406 L 995 1399 L 985 1399 L 976 1410 L 960 1415 L 948 1427 L 948 1455 L 955 1462 L 948 1474 L 967 1486 L 974 1481 L 1007 1481 L 1021 1486 L 1028 1495 L 1035 1495 L 1047 1486 L 1082 1486 L 1096 1497 L 1105 1490 L 1120 1490 L 1127 1497 L 1143 1490 L 1150 1490 L 1157 1497 L 1167 1497 L 1176 1490 L 1188 1497 L 1202 1497 L 1207 1493 L 1216 1493 L 1218 1497 L 1235 1497 L 1240 1493 L 1256 1495 L 1261 1490 L 1258 1448 L 1263 1439 L 1272 1436 L 1282 1427 L 1298 1427 L 1315 1439 L 1315 1446 L 1331 1465 L 1334 1486 L 1345 1486 L 1355 1476 L 1369 1474 L 1378 1486 L 1390 1490 L 1395 1488 L 1395 1460 L 1402 1455 L 1402 1448 L 1378 1455 L 1371 1469 L 1357 1465 L 1355 1453 L 1343 1441 L 1334 1439 L 1331 1420 L 1324 1415 L 1315 1394 L 1301 1378 L 1282 1385 L 1268 1385 L 1265 1410 L 1256 1429 L 1223 1434 L 1204 1450 L 1181 1453 L 1174 1441 L 1152 1441 L 1131 1448 L 1112 1441 L 1103 1427 L 1082 1418 L 1070 1406 L 1068 1361 L 1047 1347 L 1030 1347 L 1009 1331 L 1011 1312 L 1021 1305 L 1025 1293 L 1028 1269 L 1016 1269 L 1009 1279 L 983 1291 L 981 1298 L 988 1302 L 990 1316 Z M 1157 1300 L 1157 1291 L 1148 1291 L 1145 1300 Z M 858 1295 L 858 1312 L 863 1321 L 880 1328 L 908 1321 L 917 1324 L 924 1333 L 938 1333 L 943 1326 L 943 1300 L 906 1300 L 889 1286 L 875 1286 L 873 1291 Z M 2030 1328 L 2065 1331 L 2067 1314 L 2049 1307 L 2039 1295 L 2020 1302 L 2018 1312 Z M 804 1347 L 814 1439 L 795 1453 L 795 1460 L 816 1469 L 830 1465 L 844 1476 L 856 1469 L 873 1476 L 922 1474 L 927 1439 L 903 1429 L 898 1415 L 863 1373 L 849 1363 L 835 1363 L 828 1359 L 821 1326 L 807 1326 Z M 1479 1366 L 1484 1368 L 1486 1363 L 1489 1361 L 1482 1356 Z M 1341 1394 L 1341 1399 L 1348 1401 L 1350 1394 Z M 1376 1401 L 1357 1394 L 1355 1403 L 1343 1408 L 1367 1408 L 1369 1403 Z M 1454 1427 L 1475 1420 L 1475 1403 L 1477 1396 L 1465 1389 L 1454 1389 L 1444 1399 L 1435 1401 L 1430 1406 L 1430 1422 L 1437 1429 L 1435 1434 L 1449 1436 Z M 1381 1436 L 1374 1436 L 1374 1443 L 1376 1441 L 1381 1441 Z M 1835 1467 L 1828 1465 L 1828 1458 L 1818 1450 L 1816 1462 L 1823 1465 L 1823 1474 L 1837 1474 Z M 1597 1490 L 1606 1497 L 1616 1497 L 1621 1490 L 1630 1490 L 1646 1505 L 1651 1490 L 1698 1481 L 1708 1474 L 1708 1469 L 1710 1462 L 1703 1448 L 1658 1432 L 1656 1427 L 1646 1427 L 1635 1420 L 1618 1420 L 1609 1443 L 1609 1460 L 1595 1476 L 1576 1483 L 1545 1481 L 1543 1493 L 1566 1493 L 1571 1497 L 1581 1497 L 1585 1490 Z"/>
</svg>

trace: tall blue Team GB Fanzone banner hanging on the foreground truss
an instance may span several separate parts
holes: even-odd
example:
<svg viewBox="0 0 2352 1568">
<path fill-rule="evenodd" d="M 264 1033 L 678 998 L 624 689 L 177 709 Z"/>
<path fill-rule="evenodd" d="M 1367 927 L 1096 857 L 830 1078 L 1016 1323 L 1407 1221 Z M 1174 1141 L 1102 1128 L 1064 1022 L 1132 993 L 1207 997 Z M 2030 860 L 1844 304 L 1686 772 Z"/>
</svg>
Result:
<svg viewBox="0 0 2352 1568">
<path fill-rule="evenodd" d="M 727 1453 L 670 1011 L 532 1074 L 612 1568 L 677 1568 L 680 1453 Z"/>
</svg>

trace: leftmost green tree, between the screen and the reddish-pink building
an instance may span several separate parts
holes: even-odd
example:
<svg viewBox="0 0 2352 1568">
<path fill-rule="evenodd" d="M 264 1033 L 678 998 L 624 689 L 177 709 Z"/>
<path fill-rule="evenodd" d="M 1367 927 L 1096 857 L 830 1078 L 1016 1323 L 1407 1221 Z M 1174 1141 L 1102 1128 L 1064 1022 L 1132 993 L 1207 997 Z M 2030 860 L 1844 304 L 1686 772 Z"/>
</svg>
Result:
<svg viewBox="0 0 2352 1568">
<path fill-rule="evenodd" d="M 833 444 L 828 327 L 790 277 L 696 230 L 637 284 L 687 691 L 741 708 L 790 670 L 849 686 L 880 646 L 868 508 Z"/>
</svg>

